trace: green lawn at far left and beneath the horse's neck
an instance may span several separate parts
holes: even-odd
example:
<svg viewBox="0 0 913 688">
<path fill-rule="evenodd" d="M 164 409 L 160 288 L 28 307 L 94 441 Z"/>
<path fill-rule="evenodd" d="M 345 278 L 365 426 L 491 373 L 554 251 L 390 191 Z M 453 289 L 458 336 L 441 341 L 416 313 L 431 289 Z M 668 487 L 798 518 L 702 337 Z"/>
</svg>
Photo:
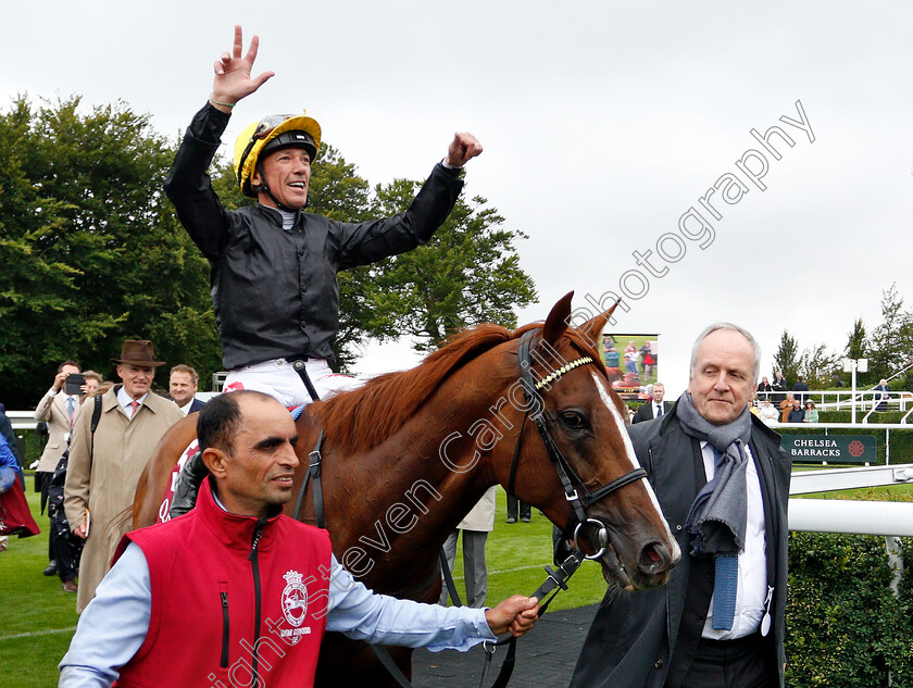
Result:
<svg viewBox="0 0 913 688">
<path fill-rule="evenodd" d="M 76 596 L 62 590 L 57 576 L 41 575 L 48 564 L 48 517 L 38 513 L 39 496 L 27 492 L 32 514 L 41 534 L 10 538 L 0 553 L 0 666 L 3 688 L 57 686 L 57 665 L 76 627 Z M 492 605 L 511 595 L 529 595 L 545 580 L 542 567 L 551 563 L 551 523 L 535 509 L 533 522 L 508 525 L 506 496 L 498 490 L 495 531 L 486 553 L 488 598 Z M 456 548 L 454 579 L 463 592 L 462 546 Z M 602 599 L 605 583 L 598 565 L 585 562 L 562 591 L 552 610 L 572 609 Z"/>
</svg>

